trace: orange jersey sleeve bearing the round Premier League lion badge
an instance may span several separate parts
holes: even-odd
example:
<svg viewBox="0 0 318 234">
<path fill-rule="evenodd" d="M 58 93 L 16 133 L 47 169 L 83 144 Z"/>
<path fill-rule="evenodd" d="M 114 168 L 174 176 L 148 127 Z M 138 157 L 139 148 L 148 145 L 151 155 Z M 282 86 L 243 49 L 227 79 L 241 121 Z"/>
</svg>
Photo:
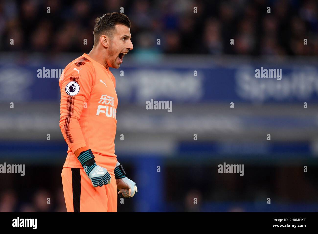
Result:
<svg viewBox="0 0 318 234">
<path fill-rule="evenodd" d="M 79 118 L 90 96 L 94 76 L 93 67 L 89 64 L 80 67 L 76 64 L 80 63 L 64 69 L 63 78 L 59 81 L 61 89 L 59 126 L 72 152 L 76 152 L 79 148 L 87 148 Z"/>
</svg>

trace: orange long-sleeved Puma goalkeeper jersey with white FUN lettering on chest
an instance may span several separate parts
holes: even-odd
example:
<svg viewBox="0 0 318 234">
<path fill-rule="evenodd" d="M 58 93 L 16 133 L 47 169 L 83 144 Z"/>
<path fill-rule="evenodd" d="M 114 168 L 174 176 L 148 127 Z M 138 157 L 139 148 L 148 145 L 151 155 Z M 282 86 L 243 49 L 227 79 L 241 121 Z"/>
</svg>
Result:
<svg viewBox="0 0 318 234">
<path fill-rule="evenodd" d="M 59 125 L 68 144 L 63 167 L 83 168 L 73 152 L 87 147 L 97 165 L 114 175 L 118 103 L 114 75 L 84 53 L 65 67 L 59 87 Z"/>
</svg>

